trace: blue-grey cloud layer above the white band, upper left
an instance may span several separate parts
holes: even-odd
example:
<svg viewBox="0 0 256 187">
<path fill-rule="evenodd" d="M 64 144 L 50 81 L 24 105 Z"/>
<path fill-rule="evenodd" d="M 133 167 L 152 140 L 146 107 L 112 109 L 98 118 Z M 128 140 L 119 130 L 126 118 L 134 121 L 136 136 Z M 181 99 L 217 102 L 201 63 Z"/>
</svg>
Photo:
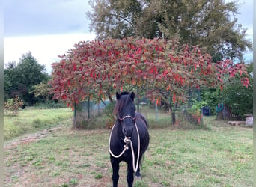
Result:
<svg viewBox="0 0 256 187">
<path fill-rule="evenodd" d="M 85 0 L 6 0 L 4 36 L 89 32 Z"/>
</svg>

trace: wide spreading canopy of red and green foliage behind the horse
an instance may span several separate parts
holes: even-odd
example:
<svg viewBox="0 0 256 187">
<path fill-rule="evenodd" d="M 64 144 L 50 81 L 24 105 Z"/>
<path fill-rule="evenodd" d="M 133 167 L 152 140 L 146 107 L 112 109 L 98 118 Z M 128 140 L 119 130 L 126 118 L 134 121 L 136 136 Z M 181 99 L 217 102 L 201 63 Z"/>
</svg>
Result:
<svg viewBox="0 0 256 187">
<path fill-rule="evenodd" d="M 198 46 L 181 45 L 177 40 L 123 39 L 79 42 L 52 64 L 54 99 L 74 103 L 94 97 L 109 98 L 124 85 L 148 85 L 147 96 L 177 103 L 185 101 L 189 87 L 223 86 L 223 79 L 240 73 L 249 85 L 243 64 L 231 60 L 214 63 Z"/>
</svg>

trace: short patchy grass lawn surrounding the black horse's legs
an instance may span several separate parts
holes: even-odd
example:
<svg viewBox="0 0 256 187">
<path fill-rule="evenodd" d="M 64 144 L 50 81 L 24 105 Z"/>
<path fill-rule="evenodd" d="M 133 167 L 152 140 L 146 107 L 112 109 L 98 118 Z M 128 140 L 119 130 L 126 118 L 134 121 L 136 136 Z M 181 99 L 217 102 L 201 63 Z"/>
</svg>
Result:
<svg viewBox="0 0 256 187">
<path fill-rule="evenodd" d="M 5 148 L 4 186 L 112 186 L 109 130 L 76 131 L 71 123 L 64 120 L 40 140 Z M 204 123 L 211 129 L 151 126 L 142 180 L 134 185 L 252 186 L 252 128 L 213 117 L 205 117 Z M 127 186 L 126 171 L 121 163 L 121 187 Z"/>
</svg>

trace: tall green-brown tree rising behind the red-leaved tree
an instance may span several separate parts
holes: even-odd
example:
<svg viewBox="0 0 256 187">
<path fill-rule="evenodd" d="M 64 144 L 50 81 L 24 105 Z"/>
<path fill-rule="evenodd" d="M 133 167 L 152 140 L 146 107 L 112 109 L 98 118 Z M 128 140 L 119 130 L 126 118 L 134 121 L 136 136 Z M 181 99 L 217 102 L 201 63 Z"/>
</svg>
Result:
<svg viewBox="0 0 256 187">
<path fill-rule="evenodd" d="M 199 45 L 213 61 L 243 58 L 252 49 L 246 29 L 237 24 L 237 1 L 221 0 L 91 0 L 91 31 L 97 39 L 178 37 Z M 232 16 L 234 19 L 232 19 Z"/>
</svg>

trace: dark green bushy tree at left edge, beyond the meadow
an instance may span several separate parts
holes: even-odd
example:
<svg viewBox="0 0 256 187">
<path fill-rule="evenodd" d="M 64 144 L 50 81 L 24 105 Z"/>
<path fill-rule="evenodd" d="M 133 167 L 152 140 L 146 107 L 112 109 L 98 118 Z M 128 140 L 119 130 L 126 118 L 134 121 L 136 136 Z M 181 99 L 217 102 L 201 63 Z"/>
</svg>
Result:
<svg viewBox="0 0 256 187">
<path fill-rule="evenodd" d="M 46 68 L 31 55 L 31 52 L 23 54 L 19 63 L 6 65 L 4 70 L 4 99 L 13 98 L 18 95 L 29 105 L 34 104 L 37 99 L 31 93 L 33 86 L 48 79 Z"/>
</svg>

